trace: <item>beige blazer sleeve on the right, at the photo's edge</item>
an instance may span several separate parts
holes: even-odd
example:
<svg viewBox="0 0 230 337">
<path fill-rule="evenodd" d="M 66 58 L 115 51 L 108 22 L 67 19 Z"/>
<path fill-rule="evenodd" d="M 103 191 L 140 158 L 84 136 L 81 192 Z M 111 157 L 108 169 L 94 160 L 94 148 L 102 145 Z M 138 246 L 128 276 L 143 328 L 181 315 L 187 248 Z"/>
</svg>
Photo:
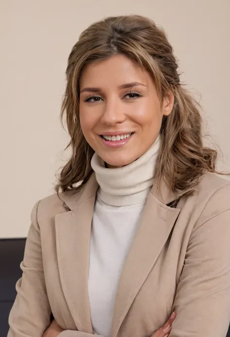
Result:
<svg viewBox="0 0 230 337">
<path fill-rule="evenodd" d="M 226 337 L 230 323 L 230 185 L 206 204 L 190 236 L 170 337 Z"/>
</svg>

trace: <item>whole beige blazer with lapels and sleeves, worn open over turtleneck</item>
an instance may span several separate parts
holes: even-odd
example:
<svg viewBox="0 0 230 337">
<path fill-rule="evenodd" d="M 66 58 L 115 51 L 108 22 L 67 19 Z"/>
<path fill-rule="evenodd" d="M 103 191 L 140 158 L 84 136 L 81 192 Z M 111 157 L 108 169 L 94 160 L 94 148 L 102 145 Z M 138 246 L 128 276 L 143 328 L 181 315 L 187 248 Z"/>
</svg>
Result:
<svg viewBox="0 0 230 337">
<path fill-rule="evenodd" d="M 194 196 L 153 184 L 123 267 L 111 337 L 151 336 L 172 310 L 170 337 L 225 337 L 230 321 L 230 182 L 205 174 Z M 52 313 L 60 337 L 90 337 L 88 262 L 98 183 L 50 195 L 31 214 L 8 337 L 41 337 Z"/>
</svg>

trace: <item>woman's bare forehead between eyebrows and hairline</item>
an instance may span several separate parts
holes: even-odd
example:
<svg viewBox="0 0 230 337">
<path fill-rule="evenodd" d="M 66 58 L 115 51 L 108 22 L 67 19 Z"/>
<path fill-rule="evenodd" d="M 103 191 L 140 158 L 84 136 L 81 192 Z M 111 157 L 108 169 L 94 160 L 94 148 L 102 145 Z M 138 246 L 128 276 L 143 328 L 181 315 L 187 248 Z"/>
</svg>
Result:
<svg viewBox="0 0 230 337">
<path fill-rule="evenodd" d="M 136 61 L 117 54 L 88 64 L 82 71 L 80 87 L 119 86 L 135 81 L 149 86 L 152 79 L 148 71 L 142 69 Z"/>
</svg>

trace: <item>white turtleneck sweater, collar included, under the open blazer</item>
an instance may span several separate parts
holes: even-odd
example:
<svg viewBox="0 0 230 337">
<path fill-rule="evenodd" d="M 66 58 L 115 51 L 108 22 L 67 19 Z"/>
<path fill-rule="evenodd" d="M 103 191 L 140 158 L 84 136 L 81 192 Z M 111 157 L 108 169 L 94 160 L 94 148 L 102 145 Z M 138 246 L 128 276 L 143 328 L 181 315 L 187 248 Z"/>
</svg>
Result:
<svg viewBox="0 0 230 337">
<path fill-rule="evenodd" d="M 110 337 L 115 295 L 148 193 L 153 184 L 159 137 L 131 164 L 105 168 L 97 153 L 91 165 L 99 183 L 89 257 L 88 294 L 93 331 Z"/>
</svg>

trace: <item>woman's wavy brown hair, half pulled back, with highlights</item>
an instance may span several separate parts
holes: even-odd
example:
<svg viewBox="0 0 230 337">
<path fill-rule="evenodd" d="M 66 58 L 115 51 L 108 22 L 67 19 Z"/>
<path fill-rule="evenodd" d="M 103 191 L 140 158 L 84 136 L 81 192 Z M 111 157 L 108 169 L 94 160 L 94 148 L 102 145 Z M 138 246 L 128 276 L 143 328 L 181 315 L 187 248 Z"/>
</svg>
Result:
<svg viewBox="0 0 230 337">
<path fill-rule="evenodd" d="M 62 168 L 55 187 L 58 193 L 80 189 L 92 174 L 94 150 L 86 142 L 79 119 L 79 80 L 85 65 L 121 53 L 138 62 L 151 74 L 161 102 L 169 92 L 174 106 L 161 125 L 161 148 L 155 176 L 175 192 L 193 189 L 205 172 L 216 172 L 217 151 L 203 145 L 200 107 L 184 89 L 177 60 L 164 30 L 139 15 L 108 17 L 85 29 L 73 46 L 66 69 L 66 92 L 61 109 L 70 135 L 72 156 Z M 82 181 L 82 184 L 75 185 Z"/>
</svg>

